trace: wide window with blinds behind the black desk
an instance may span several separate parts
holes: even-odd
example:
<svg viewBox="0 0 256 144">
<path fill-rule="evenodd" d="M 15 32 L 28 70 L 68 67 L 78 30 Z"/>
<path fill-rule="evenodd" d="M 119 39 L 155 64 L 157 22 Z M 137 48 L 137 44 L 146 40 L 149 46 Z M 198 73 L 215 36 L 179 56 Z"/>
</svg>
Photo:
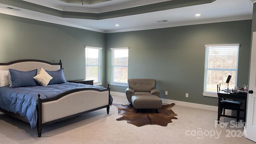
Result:
<svg viewBox="0 0 256 144">
<path fill-rule="evenodd" d="M 205 47 L 204 93 L 217 92 L 218 83 L 221 83 L 221 88 L 234 88 L 237 80 L 239 44 Z M 228 75 L 232 76 L 229 85 L 226 83 Z"/>
</svg>

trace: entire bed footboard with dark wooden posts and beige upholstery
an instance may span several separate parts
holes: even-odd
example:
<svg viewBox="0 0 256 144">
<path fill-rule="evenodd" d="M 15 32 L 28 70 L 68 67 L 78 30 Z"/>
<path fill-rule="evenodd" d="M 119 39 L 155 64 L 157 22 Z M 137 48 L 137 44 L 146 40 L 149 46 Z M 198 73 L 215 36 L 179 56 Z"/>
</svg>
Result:
<svg viewBox="0 0 256 144">
<path fill-rule="evenodd" d="M 44 125 L 102 108 L 106 108 L 108 114 L 110 109 L 110 97 L 109 84 L 108 88 L 104 89 L 78 88 L 47 99 L 41 99 L 40 94 L 38 94 L 38 137 L 41 137 L 42 126 Z"/>
</svg>

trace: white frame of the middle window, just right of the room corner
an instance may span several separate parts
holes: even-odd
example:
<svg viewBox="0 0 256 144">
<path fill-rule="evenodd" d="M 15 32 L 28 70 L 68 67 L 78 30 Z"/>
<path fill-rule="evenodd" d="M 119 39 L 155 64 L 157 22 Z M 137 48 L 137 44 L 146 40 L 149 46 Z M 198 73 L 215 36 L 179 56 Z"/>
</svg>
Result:
<svg viewBox="0 0 256 144">
<path fill-rule="evenodd" d="M 112 62 L 111 62 L 111 82 L 110 84 L 111 85 L 114 85 L 114 86 L 125 86 L 127 87 L 128 86 L 128 83 L 127 83 L 127 80 L 126 82 L 114 82 L 114 54 L 113 54 L 113 51 L 114 50 L 124 50 L 124 49 L 127 49 L 128 50 L 128 47 L 123 47 L 123 48 L 110 48 L 111 50 L 111 57 L 112 57 Z M 128 52 L 129 53 L 129 52 Z M 129 54 L 128 54 L 128 58 L 129 58 Z M 128 78 L 128 65 L 127 66 L 123 66 L 122 67 L 127 67 L 127 78 Z"/>
</svg>

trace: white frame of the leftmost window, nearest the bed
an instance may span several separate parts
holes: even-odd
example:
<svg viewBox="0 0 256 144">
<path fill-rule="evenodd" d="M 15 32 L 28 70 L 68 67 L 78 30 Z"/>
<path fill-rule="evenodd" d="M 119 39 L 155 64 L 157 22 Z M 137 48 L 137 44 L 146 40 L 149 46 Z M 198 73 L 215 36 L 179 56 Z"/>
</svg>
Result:
<svg viewBox="0 0 256 144">
<path fill-rule="evenodd" d="M 91 48 L 91 49 L 98 49 L 98 82 L 93 83 L 93 85 L 102 85 L 102 48 L 100 47 L 95 47 L 95 46 L 85 46 L 85 57 L 86 57 L 86 48 Z M 93 65 L 90 65 L 93 66 Z M 86 76 L 86 72 L 85 72 Z"/>
</svg>

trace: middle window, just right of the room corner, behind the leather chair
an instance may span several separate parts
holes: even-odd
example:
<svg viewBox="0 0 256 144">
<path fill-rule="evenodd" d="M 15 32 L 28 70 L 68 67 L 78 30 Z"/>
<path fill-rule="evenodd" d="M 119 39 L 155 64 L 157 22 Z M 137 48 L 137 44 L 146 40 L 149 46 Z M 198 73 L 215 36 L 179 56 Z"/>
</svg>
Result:
<svg viewBox="0 0 256 144">
<path fill-rule="evenodd" d="M 111 48 L 112 76 L 111 85 L 127 86 L 128 48 Z"/>
</svg>

